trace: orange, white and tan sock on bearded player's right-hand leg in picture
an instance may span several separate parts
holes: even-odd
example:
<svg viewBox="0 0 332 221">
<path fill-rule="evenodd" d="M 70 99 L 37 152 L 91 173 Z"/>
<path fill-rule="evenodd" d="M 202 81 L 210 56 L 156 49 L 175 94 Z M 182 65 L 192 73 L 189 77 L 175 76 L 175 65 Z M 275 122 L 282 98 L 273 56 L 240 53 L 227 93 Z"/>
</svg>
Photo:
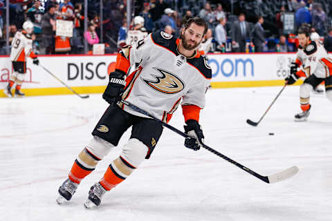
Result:
<svg viewBox="0 0 332 221">
<path fill-rule="evenodd" d="M 104 177 L 100 180 L 100 184 L 104 189 L 110 191 L 120 184 L 120 182 L 124 181 L 134 169 L 136 169 L 134 166 L 129 164 L 122 157 L 118 157 L 118 159 L 114 160 L 109 165 Z"/>
</svg>

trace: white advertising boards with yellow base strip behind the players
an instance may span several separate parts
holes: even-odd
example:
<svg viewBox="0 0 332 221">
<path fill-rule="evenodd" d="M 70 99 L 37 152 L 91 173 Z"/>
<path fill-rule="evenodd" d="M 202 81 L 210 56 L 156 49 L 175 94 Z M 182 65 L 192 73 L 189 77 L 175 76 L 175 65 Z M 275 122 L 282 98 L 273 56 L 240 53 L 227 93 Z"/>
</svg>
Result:
<svg viewBox="0 0 332 221">
<path fill-rule="evenodd" d="M 281 86 L 289 75 L 295 53 L 210 54 L 212 88 Z M 77 93 L 102 93 L 116 55 L 40 56 L 40 64 L 71 86 Z M 12 65 L 8 56 L 0 57 L 0 97 L 4 97 Z M 300 84 L 300 82 L 297 82 Z M 22 91 L 27 96 L 71 94 L 57 79 L 28 59 Z"/>
</svg>

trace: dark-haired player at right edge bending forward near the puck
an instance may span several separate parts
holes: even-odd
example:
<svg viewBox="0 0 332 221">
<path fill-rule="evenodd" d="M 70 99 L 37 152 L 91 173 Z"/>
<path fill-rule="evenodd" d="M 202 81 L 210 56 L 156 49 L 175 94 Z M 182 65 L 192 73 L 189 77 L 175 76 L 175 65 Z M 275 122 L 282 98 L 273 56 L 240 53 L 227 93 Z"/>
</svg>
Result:
<svg viewBox="0 0 332 221">
<path fill-rule="evenodd" d="M 299 77 L 306 77 L 299 89 L 302 113 L 295 115 L 295 121 L 306 121 L 311 109 L 311 90 L 322 81 L 325 81 L 326 97 L 332 102 L 332 59 L 324 46 L 317 41 L 311 41 L 308 27 L 300 27 L 298 37 L 297 59 L 292 63 L 291 75 L 285 80 L 287 84 L 294 84 Z M 297 70 L 298 68 L 300 70 Z"/>
</svg>

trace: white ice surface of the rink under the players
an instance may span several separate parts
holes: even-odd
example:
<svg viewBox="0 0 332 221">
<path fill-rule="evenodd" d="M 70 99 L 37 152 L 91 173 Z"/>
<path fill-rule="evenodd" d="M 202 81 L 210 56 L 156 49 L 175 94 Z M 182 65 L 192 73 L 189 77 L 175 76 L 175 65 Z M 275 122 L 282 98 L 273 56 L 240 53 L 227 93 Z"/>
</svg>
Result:
<svg viewBox="0 0 332 221">
<path fill-rule="evenodd" d="M 0 99 L 0 220 L 332 220 L 332 104 L 311 96 L 308 122 L 294 122 L 299 88 L 212 89 L 201 114 L 205 143 L 261 175 L 298 166 L 294 177 L 266 184 L 205 149 L 194 152 L 165 128 L 150 160 L 107 193 L 98 209 L 83 202 L 120 145 L 56 204 L 57 189 L 107 103 L 101 95 Z M 170 124 L 183 129 L 181 108 Z M 275 133 L 275 135 L 268 135 Z"/>
</svg>

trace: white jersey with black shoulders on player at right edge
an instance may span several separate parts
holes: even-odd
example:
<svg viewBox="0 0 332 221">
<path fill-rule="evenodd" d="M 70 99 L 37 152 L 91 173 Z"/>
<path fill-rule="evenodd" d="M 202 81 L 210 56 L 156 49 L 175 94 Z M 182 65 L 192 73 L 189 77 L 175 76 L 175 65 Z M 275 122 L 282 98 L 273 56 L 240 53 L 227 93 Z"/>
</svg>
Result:
<svg viewBox="0 0 332 221">
<path fill-rule="evenodd" d="M 305 76 L 315 75 L 318 78 L 325 78 L 332 75 L 332 59 L 329 58 L 324 46 L 311 41 L 306 48 L 299 46 L 297 60 L 302 65 Z"/>
</svg>

